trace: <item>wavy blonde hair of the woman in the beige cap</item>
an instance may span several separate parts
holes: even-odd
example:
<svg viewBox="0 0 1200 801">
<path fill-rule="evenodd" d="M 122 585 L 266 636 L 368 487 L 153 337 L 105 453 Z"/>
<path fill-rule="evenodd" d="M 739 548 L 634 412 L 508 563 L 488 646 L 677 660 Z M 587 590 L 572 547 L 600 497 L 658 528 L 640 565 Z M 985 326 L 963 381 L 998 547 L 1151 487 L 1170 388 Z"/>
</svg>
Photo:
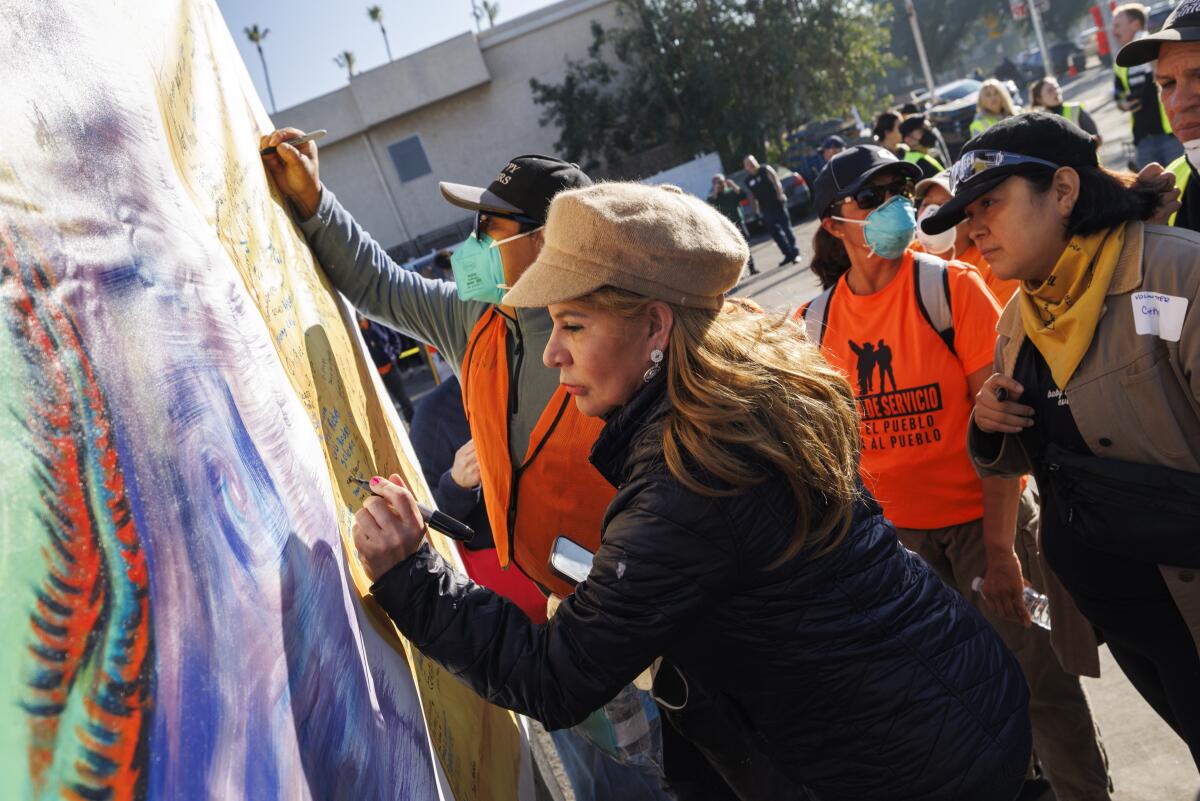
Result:
<svg viewBox="0 0 1200 801">
<path fill-rule="evenodd" d="M 637 319 L 652 300 L 605 287 L 577 302 Z M 770 567 L 805 548 L 828 553 L 850 530 L 859 498 L 850 383 L 785 315 L 749 301 L 719 312 L 670 306 L 662 453 L 671 475 L 700 495 L 727 496 L 780 472 L 796 495 L 796 531 Z M 728 488 L 706 483 L 697 469 Z M 824 512 L 812 520 L 818 505 Z"/>
</svg>

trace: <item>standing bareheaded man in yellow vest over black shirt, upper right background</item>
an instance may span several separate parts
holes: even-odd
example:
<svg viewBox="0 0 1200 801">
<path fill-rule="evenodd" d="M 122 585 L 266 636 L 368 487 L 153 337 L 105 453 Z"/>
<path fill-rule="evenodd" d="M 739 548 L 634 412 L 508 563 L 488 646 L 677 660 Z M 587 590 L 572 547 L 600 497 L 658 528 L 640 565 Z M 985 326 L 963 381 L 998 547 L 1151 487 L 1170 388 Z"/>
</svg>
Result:
<svg viewBox="0 0 1200 801">
<path fill-rule="evenodd" d="M 1117 6 L 1112 12 L 1112 38 L 1121 48 L 1146 37 L 1146 6 L 1139 2 Z M 1151 49 L 1157 53 L 1153 44 Z M 1136 64 L 1117 61 L 1112 67 L 1117 107 L 1122 112 L 1129 112 L 1133 125 L 1133 143 L 1138 149 L 1134 169 L 1141 169 L 1152 162 L 1170 164 L 1183 155 L 1183 147 L 1172 135 L 1166 110 L 1159 101 L 1152 61 L 1153 58 Z"/>
</svg>

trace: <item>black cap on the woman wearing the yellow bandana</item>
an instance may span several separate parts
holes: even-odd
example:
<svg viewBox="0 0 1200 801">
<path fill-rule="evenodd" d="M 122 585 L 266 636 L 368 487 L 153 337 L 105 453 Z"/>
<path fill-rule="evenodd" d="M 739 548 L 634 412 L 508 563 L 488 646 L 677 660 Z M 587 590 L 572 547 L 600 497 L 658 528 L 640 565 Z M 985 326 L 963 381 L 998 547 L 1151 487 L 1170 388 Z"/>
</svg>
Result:
<svg viewBox="0 0 1200 801">
<path fill-rule="evenodd" d="M 954 228 L 968 205 L 1014 175 L 1099 163 L 1092 137 L 1064 116 L 1031 112 L 1006 118 L 962 146 L 962 156 L 950 167 L 954 197 L 920 228 L 926 234 Z"/>
</svg>

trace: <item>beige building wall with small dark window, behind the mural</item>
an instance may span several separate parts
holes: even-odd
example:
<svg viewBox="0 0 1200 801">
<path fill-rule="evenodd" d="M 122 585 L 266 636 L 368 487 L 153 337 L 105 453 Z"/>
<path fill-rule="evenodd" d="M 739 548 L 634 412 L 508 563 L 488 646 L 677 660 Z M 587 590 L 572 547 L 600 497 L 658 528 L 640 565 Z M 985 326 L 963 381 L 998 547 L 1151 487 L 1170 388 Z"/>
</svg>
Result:
<svg viewBox="0 0 1200 801">
<path fill-rule="evenodd" d="M 413 243 L 469 217 L 442 198 L 438 181 L 487 186 L 512 156 L 556 155 L 558 130 L 539 125 L 529 79 L 560 82 L 569 59 L 587 58 L 593 20 L 612 26 L 616 8 L 614 0 L 564 0 L 355 76 L 272 119 L 328 128 L 322 181 L 380 245 Z M 388 146 L 412 135 L 431 173 L 401 181 Z"/>
</svg>

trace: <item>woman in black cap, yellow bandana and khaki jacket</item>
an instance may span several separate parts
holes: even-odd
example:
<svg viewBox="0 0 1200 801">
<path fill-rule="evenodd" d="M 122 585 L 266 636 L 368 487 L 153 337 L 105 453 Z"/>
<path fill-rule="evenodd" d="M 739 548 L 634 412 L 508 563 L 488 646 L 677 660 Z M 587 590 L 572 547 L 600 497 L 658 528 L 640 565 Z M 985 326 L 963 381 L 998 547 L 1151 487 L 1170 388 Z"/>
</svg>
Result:
<svg viewBox="0 0 1200 801">
<path fill-rule="evenodd" d="M 979 391 L 982 475 L 1033 472 L 1064 660 L 1098 632 L 1200 765 L 1200 235 L 1145 225 L 1159 195 L 1099 165 L 1067 120 L 1025 114 L 967 143 L 954 199 L 991 269 L 1020 279 Z M 1061 630 L 1072 600 L 1091 626 Z"/>
</svg>

